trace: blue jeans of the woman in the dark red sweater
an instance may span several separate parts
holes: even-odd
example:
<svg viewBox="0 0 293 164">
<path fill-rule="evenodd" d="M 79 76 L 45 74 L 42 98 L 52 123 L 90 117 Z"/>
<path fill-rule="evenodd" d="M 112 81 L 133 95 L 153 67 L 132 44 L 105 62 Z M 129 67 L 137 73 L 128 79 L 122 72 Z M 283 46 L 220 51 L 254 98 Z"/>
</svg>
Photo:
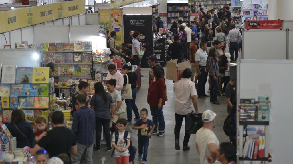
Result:
<svg viewBox="0 0 293 164">
<path fill-rule="evenodd" d="M 165 132 L 165 118 L 163 114 L 163 107 L 161 109 L 156 107 L 151 107 L 151 115 L 153 116 L 153 122 L 155 124 L 155 130 L 154 132 L 158 131 L 158 121 L 159 123 L 159 132 Z"/>
</svg>

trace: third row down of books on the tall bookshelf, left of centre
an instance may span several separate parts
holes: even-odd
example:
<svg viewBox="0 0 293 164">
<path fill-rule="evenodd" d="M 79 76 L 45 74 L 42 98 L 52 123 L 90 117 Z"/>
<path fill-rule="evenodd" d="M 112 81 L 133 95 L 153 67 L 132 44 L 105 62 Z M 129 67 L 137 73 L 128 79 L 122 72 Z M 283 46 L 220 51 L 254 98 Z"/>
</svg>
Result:
<svg viewBox="0 0 293 164">
<path fill-rule="evenodd" d="M 74 67 L 62 66 L 55 67 L 55 71 L 52 76 L 82 76 L 91 74 L 91 65 L 75 64 Z"/>
</svg>

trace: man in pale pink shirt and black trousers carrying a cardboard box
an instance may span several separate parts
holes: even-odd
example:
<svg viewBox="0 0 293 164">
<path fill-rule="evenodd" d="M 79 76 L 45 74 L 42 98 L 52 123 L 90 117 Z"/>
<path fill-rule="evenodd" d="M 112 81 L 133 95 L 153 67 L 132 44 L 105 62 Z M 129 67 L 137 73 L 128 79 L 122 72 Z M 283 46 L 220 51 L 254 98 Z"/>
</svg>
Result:
<svg viewBox="0 0 293 164">
<path fill-rule="evenodd" d="M 196 90 L 195 83 L 190 81 L 191 70 L 186 68 L 183 71 L 183 77 L 174 83 L 174 91 L 175 91 L 175 149 L 180 150 L 179 144 L 179 134 L 180 128 L 182 125 L 183 118 L 186 117 L 187 114 L 193 112 L 193 108 L 195 109 L 195 113 L 199 114 L 197 109 L 197 100 L 196 100 Z M 183 140 L 183 151 L 190 149 L 188 146 L 188 141 L 190 138 L 190 134 L 185 132 L 184 140 Z"/>
</svg>

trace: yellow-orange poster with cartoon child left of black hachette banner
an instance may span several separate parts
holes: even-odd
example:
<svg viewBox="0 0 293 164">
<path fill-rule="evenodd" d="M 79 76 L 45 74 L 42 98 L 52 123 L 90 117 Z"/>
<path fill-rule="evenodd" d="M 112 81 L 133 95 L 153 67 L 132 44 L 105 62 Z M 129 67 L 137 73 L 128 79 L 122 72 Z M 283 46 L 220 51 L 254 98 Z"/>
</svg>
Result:
<svg viewBox="0 0 293 164">
<path fill-rule="evenodd" d="M 121 47 L 123 43 L 122 9 L 113 9 L 111 12 L 111 31 L 116 32 L 116 47 Z"/>
</svg>

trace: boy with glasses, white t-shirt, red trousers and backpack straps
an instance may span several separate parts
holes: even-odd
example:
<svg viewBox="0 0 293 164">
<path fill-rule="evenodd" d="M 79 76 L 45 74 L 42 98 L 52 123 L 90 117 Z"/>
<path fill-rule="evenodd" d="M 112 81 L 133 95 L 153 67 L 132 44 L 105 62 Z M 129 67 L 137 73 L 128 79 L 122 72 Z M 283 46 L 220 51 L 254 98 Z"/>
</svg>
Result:
<svg viewBox="0 0 293 164">
<path fill-rule="evenodd" d="M 130 135 L 128 133 L 127 135 L 127 144 L 125 144 L 125 138 L 124 138 L 124 133 L 125 133 L 125 128 L 127 125 L 127 121 L 125 118 L 119 118 L 117 120 L 117 129 L 118 129 L 118 140 L 117 144 L 115 144 L 115 133 L 113 133 L 112 137 L 112 146 L 115 148 L 115 158 L 116 158 L 116 163 L 117 164 L 129 164 L 129 151 L 128 147 L 130 146 Z"/>
</svg>

